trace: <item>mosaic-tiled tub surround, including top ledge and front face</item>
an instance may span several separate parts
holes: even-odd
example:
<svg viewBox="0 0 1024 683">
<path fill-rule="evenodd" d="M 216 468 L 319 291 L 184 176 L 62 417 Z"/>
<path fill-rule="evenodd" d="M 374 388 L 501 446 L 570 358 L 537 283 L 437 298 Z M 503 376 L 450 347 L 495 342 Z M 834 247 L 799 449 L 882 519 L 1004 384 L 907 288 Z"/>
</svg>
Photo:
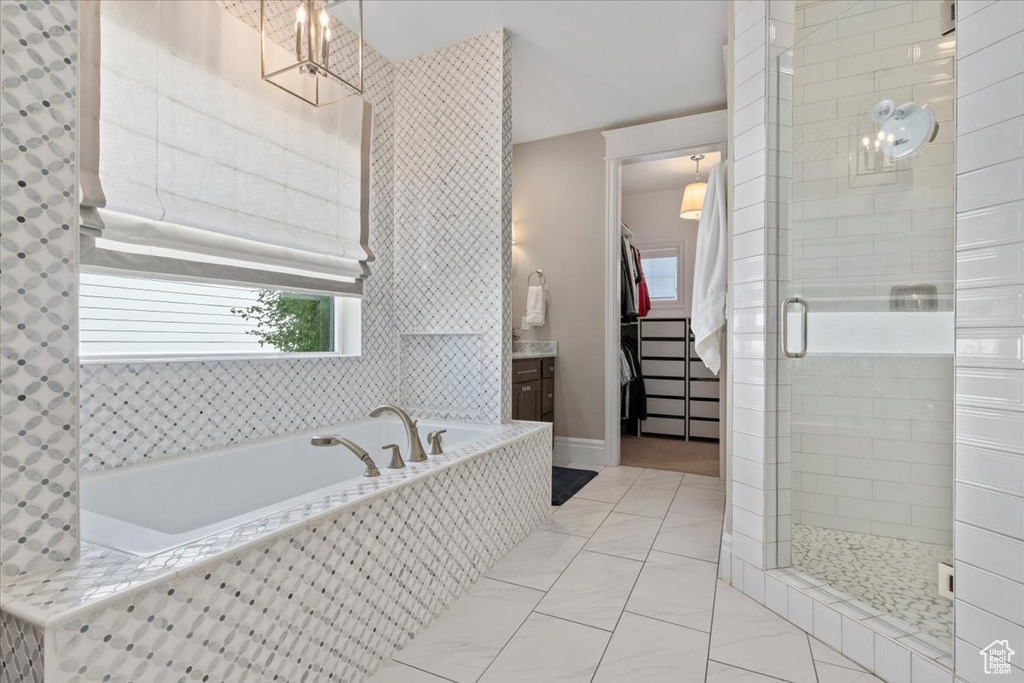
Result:
<svg viewBox="0 0 1024 683">
<path fill-rule="evenodd" d="M 359 680 L 549 514 L 548 425 L 423 465 L 152 558 L 85 544 L 5 583 L 5 616 L 57 680 Z"/>
</svg>

